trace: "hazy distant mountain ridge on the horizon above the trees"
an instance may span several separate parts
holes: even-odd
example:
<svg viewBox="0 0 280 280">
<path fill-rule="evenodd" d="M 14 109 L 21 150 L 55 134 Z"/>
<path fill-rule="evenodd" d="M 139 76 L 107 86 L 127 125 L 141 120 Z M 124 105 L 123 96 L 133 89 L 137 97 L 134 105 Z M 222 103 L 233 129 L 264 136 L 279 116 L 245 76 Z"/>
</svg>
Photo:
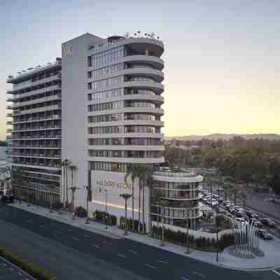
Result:
<svg viewBox="0 0 280 280">
<path fill-rule="evenodd" d="M 211 139 L 211 140 L 230 140 L 233 137 L 243 137 L 244 139 L 268 139 L 268 140 L 280 140 L 280 134 L 210 134 L 210 135 L 188 135 L 188 136 L 178 136 L 178 137 L 165 137 L 165 140 L 181 140 L 181 141 L 200 141 L 202 139 Z"/>
</svg>

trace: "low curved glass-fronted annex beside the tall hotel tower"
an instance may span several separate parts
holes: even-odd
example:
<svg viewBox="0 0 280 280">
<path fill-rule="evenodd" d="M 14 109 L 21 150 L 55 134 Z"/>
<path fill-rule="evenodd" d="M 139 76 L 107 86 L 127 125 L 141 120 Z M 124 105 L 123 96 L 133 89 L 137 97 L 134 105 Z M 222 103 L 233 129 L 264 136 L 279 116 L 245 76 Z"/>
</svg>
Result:
<svg viewBox="0 0 280 280">
<path fill-rule="evenodd" d="M 190 230 L 198 230 L 202 216 L 202 181 L 203 177 L 193 172 L 154 172 L 152 222 L 162 223 L 163 211 L 165 224 L 186 228 L 188 223 Z"/>
</svg>

